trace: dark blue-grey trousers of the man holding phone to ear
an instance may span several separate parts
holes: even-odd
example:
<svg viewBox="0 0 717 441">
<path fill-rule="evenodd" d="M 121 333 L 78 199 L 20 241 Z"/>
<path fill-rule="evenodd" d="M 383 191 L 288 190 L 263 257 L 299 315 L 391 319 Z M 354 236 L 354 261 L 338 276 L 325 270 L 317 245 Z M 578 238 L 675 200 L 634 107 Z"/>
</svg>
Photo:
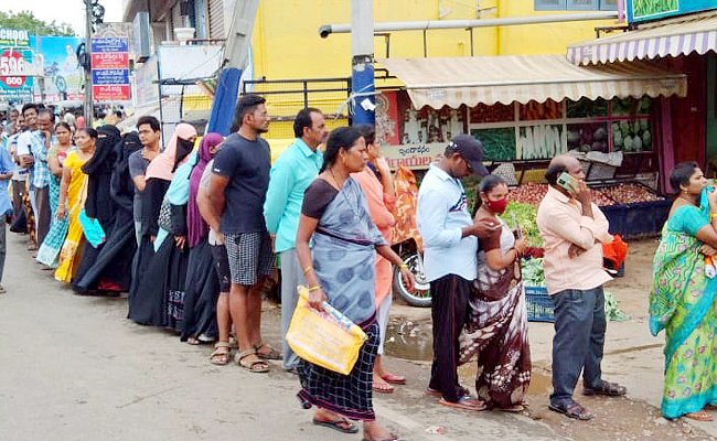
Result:
<svg viewBox="0 0 717 441">
<path fill-rule="evenodd" d="M 604 344 L 604 295 L 602 287 L 565 290 L 554 295 L 555 336 L 553 337 L 553 395 L 550 402 L 572 400 L 572 390 L 582 372 L 582 384 L 602 385 L 600 362 Z"/>
</svg>

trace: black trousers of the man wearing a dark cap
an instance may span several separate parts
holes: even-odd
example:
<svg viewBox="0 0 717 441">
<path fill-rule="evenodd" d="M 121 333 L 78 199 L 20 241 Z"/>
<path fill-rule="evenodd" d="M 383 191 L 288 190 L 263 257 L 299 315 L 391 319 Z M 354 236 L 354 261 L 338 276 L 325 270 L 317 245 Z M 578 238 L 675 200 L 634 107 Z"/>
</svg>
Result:
<svg viewBox="0 0 717 441">
<path fill-rule="evenodd" d="M 468 318 L 473 282 L 448 275 L 430 282 L 434 321 L 434 365 L 428 387 L 448 401 L 458 401 L 463 389 L 458 381 L 458 336 Z"/>
</svg>

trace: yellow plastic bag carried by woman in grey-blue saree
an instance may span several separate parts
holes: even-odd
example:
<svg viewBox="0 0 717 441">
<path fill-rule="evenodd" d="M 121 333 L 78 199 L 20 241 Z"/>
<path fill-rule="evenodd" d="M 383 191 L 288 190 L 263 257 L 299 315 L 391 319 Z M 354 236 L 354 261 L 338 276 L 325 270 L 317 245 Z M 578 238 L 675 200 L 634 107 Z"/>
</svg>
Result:
<svg viewBox="0 0 717 441">
<path fill-rule="evenodd" d="M 299 357 L 317 366 L 349 375 L 366 341 L 361 327 L 324 302 L 324 312 L 311 308 L 309 290 L 297 287 L 299 301 L 287 332 L 287 343 Z"/>
</svg>

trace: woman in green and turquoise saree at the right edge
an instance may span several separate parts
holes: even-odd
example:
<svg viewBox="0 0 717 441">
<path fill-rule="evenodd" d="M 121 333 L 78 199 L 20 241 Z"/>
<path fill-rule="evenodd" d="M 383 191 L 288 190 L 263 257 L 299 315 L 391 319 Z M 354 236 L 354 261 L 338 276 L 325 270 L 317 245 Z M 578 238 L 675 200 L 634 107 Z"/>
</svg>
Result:
<svg viewBox="0 0 717 441">
<path fill-rule="evenodd" d="M 662 415 L 711 421 L 704 409 L 717 405 L 717 277 L 706 257 L 717 248 L 717 191 L 696 162 L 677 164 L 670 183 L 679 195 L 662 229 L 650 294 L 650 332 L 665 331 Z"/>
</svg>

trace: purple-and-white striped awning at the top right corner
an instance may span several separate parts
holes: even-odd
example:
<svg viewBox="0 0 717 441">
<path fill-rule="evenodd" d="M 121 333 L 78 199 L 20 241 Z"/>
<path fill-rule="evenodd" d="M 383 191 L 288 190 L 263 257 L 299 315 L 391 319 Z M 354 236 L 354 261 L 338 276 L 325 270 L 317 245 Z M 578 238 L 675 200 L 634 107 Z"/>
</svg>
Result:
<svg viewBox="0 0 717 441">
<path fill-rule="evenodd" d="M 642 25 L 635 31 L 568 46 L 567 58 L 577 65 L 654 60 L 705 54 L 717 49 L 717 15 L 691 15 L 668 24 Z"/>
</svg>

